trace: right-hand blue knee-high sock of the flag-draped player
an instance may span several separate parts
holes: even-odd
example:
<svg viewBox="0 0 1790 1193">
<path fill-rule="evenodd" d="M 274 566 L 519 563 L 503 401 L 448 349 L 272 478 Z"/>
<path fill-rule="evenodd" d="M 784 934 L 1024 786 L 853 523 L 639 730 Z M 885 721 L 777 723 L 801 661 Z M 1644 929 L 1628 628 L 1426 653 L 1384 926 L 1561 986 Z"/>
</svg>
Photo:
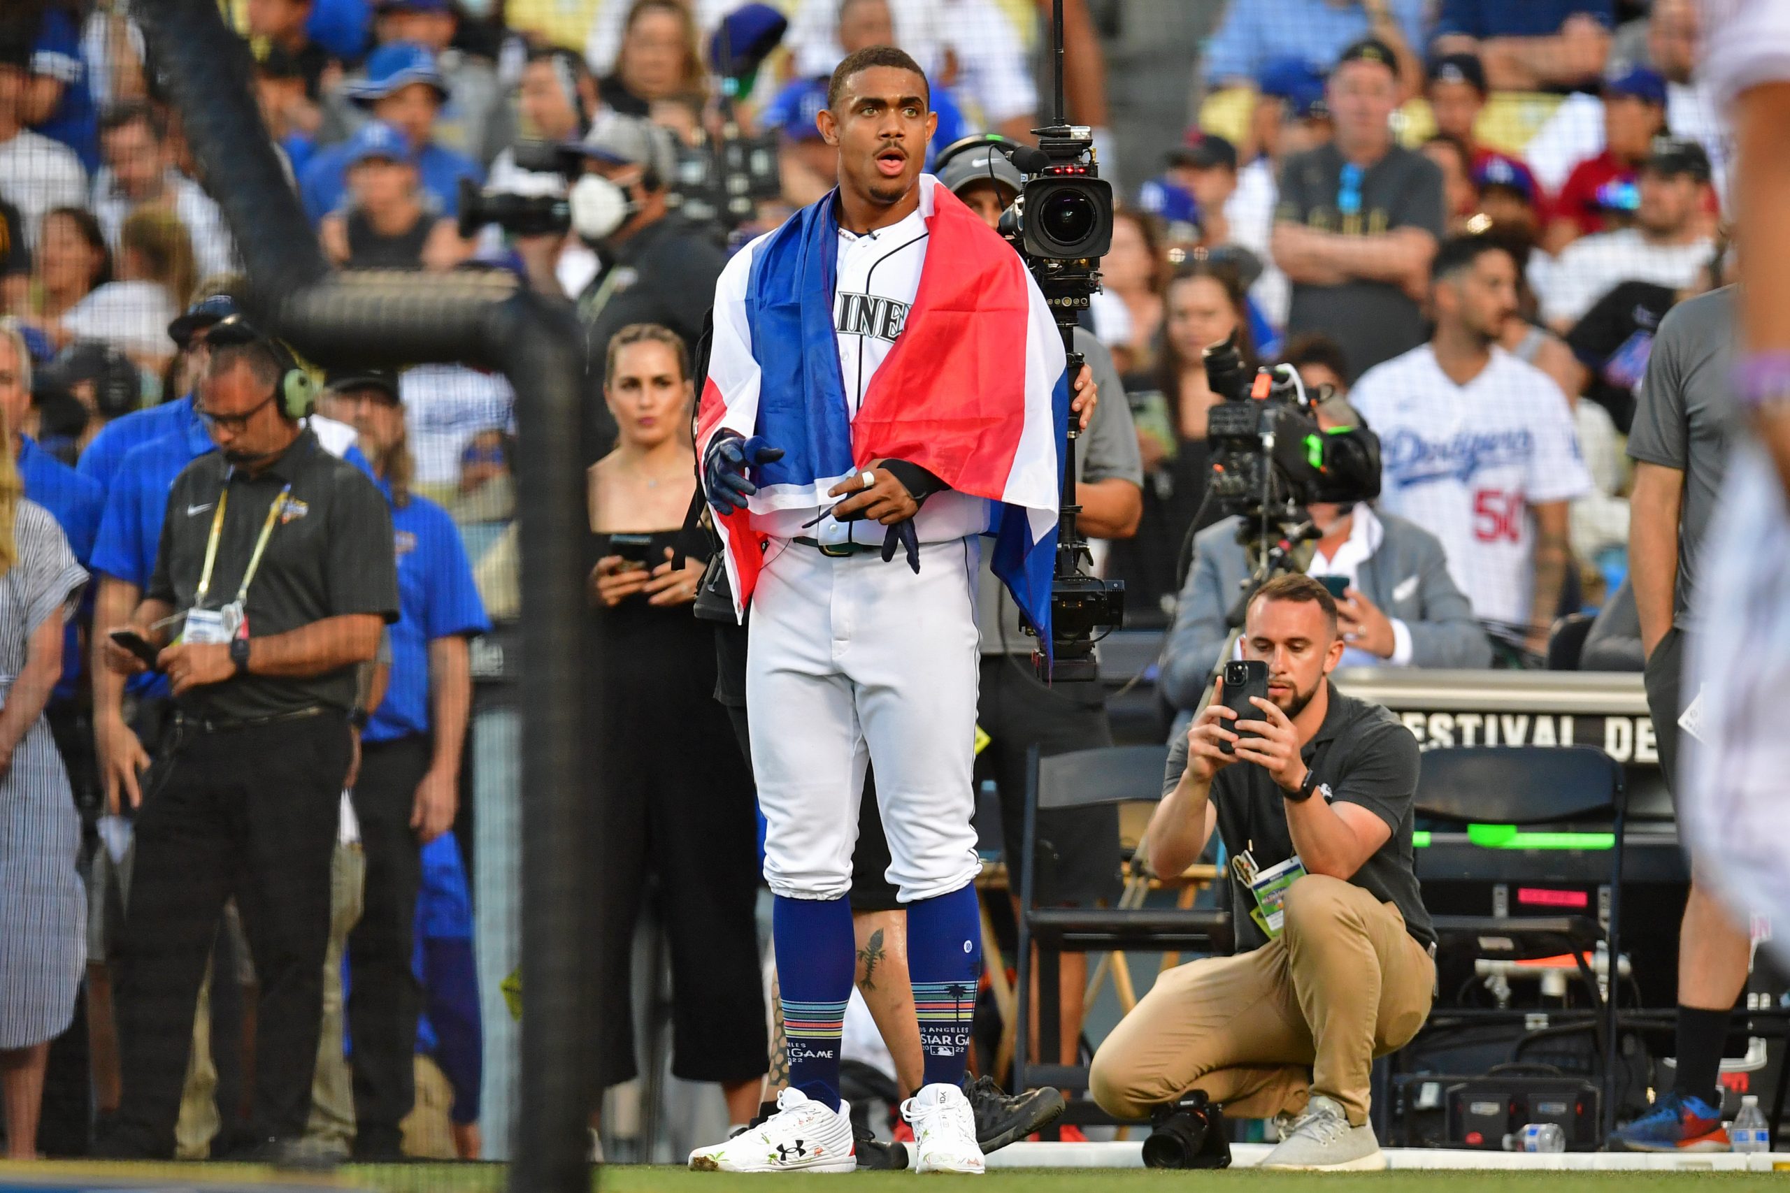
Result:
<svg viewBox="0 0 1790 1193">
<path fill-rule="evenodd" d="M 908 973 L 927 1086 L 963 1082 L 983 973 L 981 926 L 974 885 L 908 903 Z"/>
</svg>

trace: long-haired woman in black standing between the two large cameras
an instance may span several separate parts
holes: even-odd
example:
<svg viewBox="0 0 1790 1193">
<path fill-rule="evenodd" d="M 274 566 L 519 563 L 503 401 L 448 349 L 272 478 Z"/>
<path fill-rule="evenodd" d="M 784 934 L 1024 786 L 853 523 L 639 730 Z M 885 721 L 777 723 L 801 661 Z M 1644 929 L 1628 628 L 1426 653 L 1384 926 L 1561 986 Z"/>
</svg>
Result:
<svg viewBox="0 0 1790 1193">
<path fill-rule="evenodd" d="M 1181 578 L 1176 565 L 1206 495 L 1206 410 L 1223 401 L 1206 385 L 1201 352 L 1232 333 L 1255 368 L 1242 283 L 1228 265 L 1190 261 L 1169 281 L 1156 368 L 1126 377 L 1126 399 L 1144 458 L 1144 517 L 1133 538 L 1112 544 L 1106 574 L 1126 581 L 1126 624 L 1167 626 Z M 1201 522 L 1217 520 L 1206 512 Z"/>
</svg>

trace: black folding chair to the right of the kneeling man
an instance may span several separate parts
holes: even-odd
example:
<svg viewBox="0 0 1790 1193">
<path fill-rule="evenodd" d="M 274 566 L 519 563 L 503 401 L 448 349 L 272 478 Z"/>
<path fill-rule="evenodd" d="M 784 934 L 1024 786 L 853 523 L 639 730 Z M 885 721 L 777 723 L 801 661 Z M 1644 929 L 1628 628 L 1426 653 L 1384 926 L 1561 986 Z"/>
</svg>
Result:
<svg viewBox="0 0 1790 1193">
<path fill-rule="evenodd" d="M 1616 978 L 1622 955 L 1622 848 L 1627 798 L 1622 767 L 1591 746 L 1464 746 L 1428 749 L 1418 778 L 1416 814 L 1437 828 L 1514 825 L 1518 828 L 1566 821 L 1613 825 L 1609 851 L 1609 930 L 1591 916 L 1434 916 L 1437 935 L 1509 943 L 1505 960 L 1570 952 L 1590 991 L 1604 1055 L 1604 1134 L 1616 1113 Z M 1598 987 L 1586 953 L 1607 946 L 1609 994 Z M 1522 1011 L 1511 1012 L 1522 1018 Z"/>
</svg>

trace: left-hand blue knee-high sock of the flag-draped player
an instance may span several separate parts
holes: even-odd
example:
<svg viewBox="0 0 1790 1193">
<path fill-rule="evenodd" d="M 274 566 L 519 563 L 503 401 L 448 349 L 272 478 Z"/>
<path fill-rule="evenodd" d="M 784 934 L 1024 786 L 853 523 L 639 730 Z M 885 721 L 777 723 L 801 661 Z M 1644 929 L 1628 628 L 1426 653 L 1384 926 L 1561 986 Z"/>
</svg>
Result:
<svg viewBox="0 0 1790 1193">
<path fill-rule="evenodd" d="M 840 1109 L 840 1032 L 852 996 L 857 943 L 852 907 L 838 900 L 791 900 L 771 910 L 777 993 L 789 1041 L 789 1084 Z"/>
</svg>

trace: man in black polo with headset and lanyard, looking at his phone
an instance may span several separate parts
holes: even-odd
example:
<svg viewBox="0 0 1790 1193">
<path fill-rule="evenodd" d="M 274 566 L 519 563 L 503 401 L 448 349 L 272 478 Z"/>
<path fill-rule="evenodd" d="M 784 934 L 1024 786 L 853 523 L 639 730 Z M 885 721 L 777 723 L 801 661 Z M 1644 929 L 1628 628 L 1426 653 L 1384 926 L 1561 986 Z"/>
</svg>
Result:
<svg viewBox="0 0 1790 1193">
<path fill-rule="evenodd" d="M 310 376 L 242 317 L 209 345 L 195 408 L 218 453 L 174 481 L 145 599 L 120 628 L 156 651 L 175 728 L 136 821 L 124 1102 L 102 1141 L 116 1157 L 174 1154 L 188 1025 L 233 894 L 261 984 L 251 1130 L 267 1159 L 304 1134 L 356 669 L 397 619 L 390 513 L 303 426 Z M 143 669 L 116 642 L 107 664 Z"/>
</svg>

